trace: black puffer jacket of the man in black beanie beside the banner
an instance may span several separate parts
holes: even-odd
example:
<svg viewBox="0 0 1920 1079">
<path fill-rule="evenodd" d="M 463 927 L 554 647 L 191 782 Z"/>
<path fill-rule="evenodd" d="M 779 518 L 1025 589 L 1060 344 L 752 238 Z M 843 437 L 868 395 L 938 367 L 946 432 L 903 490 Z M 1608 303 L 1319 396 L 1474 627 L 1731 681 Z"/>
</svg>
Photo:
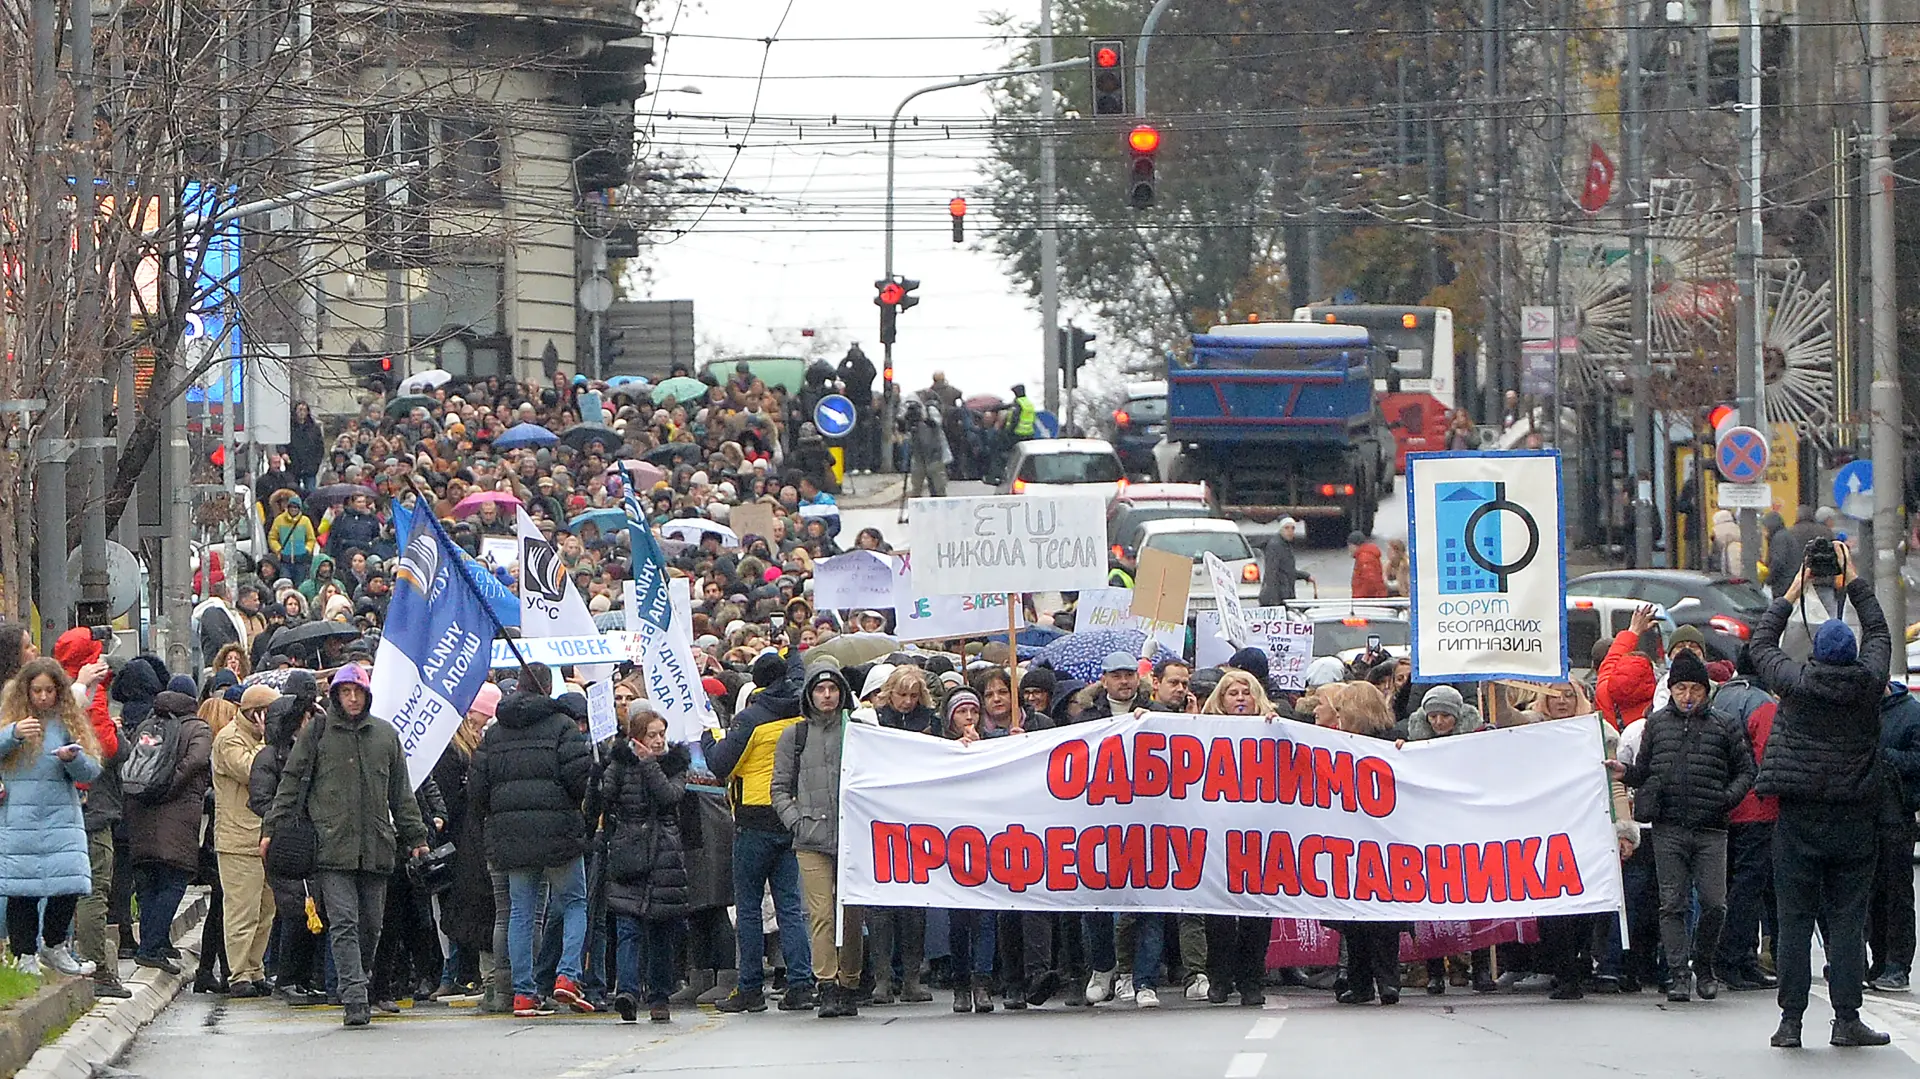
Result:
<svg viewBox="0 0 1920 1079">
<path fill-rule="evenodd" d="M 1647 716 L 1626 785 L 1640 789 L 1634 820 L 1642 824 L 1726 827 L 1726 814 L 1753 787 L 1747 731 L 1713 708 L 1686 714 L 1667 705 Z"/>
</svg>

